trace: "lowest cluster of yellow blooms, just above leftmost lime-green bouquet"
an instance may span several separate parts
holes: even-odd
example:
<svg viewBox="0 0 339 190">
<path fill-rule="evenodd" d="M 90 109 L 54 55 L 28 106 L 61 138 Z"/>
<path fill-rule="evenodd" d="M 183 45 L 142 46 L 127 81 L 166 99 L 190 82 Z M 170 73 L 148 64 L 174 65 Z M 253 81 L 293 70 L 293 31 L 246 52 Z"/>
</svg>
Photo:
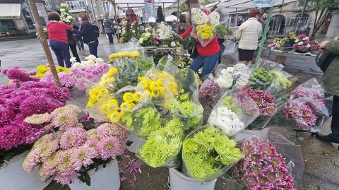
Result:
<svg viewBox="0 0 339 190">
<path fill-rule="evenodd" d="M 112 123 L 117 123 L 126 112 L 131 112 L 131 109 L 136 107 L 136 104 L 143 100 L 143 95 L 138 92 L 124 93 L 122 100 L 124 100 L 124 102 L 119 104 L 117 99 L 112 98 L 100 107 L 101 112 L 106 114 L 107 118 Z"/>
</svg>

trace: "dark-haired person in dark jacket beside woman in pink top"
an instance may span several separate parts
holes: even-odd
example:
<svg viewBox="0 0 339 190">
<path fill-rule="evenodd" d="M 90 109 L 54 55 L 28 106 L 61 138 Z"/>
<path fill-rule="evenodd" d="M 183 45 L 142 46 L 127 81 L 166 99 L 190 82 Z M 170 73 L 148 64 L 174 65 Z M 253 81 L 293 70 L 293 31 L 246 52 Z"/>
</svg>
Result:
<svg viewBox="0 0 339 190">
<path fill-rule="evenodd" d="M 99 40 L 97 40 L 97 30 L 90 22 L 88 22 L 88 15 L 86 13 L 79 13 L 79 21 L 82 21 L 80 30 L 73 30 L 77 35 L 83 36 L 83 42 L 88 45 L 90 49 L 90 54 L 93 54 L 97 57 L 97 46 L 99 45 Z"/>
</svg>

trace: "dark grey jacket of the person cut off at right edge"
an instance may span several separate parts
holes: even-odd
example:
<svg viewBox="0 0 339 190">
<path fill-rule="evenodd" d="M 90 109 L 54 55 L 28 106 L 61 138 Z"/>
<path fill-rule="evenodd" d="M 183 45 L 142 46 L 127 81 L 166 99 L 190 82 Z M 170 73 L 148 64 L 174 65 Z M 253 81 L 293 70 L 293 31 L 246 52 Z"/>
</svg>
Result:
<svg viewBox="0 0 339 190">
<path fill-rule="evenodd" d="M 339 40 L 333 40 L 332 42 L 328 42 L 326 44 L 325 49 L 332 54 L 336 54 L 337 56 L 331 64 L 326 69 L 325 73 L 323 73 L 323 78 L 321 79 L 321 83 L 323 88 L 326 90 L 326 93 L 330 93 L 332 95 L 336 95 L 339 97 Z"/>
</svg>

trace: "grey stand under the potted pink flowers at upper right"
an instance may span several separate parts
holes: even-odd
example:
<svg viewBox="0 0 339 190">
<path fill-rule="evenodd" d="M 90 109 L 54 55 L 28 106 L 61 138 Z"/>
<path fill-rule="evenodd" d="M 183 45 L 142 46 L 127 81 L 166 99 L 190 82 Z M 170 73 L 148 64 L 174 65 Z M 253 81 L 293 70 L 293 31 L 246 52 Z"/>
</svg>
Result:
<svg viewBox="0 0 339 190">
<path fill-rule="evenodd" d="M 263 56 L 271 61 L 276 61 L 279 57 L 286 57 L 285 69 L 291 69 L 299 73 L 307 73 L 315 76 L 321 76 L 323 72 L 316 65 L 316 54 L 299 54 L 296 52 L 284 52 L 275 49 L 266 49 Z"/>
</svg>

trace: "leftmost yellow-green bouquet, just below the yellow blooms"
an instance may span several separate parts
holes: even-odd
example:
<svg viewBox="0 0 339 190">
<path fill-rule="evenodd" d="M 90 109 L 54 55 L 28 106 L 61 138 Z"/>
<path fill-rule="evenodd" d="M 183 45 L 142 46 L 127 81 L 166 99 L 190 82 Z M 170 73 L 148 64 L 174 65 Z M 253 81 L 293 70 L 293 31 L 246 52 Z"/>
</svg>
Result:
<svg viewBox="0 0 339 190">
<path fill-rule="evenodd" d="M 143 107 L 135 112 L 129 112 L 121 119 L 126 127 L 136 132 L 137 136 L 149 136 L 160 128 L 160 113 L 154 107 Z"/>
</svg>

